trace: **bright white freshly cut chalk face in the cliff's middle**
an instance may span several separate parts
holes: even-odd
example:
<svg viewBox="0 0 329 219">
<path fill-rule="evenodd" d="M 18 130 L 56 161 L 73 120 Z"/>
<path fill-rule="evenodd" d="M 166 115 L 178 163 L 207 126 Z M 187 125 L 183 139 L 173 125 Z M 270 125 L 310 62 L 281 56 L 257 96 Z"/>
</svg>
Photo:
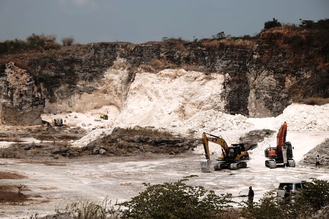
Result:
<svg viewBox="0 0 329 219">
<path fill-rule="evenodd" d="M 200 110 L 223 109 L 223 75 L 184 69 L 148 73 L 139 69 L 123 110 L 114 124 L 164 127 L 188 119 Z"/>
</svg>

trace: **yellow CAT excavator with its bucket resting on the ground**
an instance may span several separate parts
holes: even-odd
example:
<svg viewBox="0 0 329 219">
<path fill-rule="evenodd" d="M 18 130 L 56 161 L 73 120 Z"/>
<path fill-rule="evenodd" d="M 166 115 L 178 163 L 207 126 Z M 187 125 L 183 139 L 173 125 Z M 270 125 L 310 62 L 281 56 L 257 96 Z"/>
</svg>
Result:
<svg viewBox="0 0 329 219">
<path fill-rule="evenodd" d="M 209 137 L 207 135 L 209 135 Z M 202 143 L 205 149 L 206 159 L 200 161 L 202 172 L 210 172 L 211 160 L 208 145 L 209 141 L 219 144 L 222 147 L 222 155 L 217 159 L 219 162 L 215 164 L 215 170 L 237 170 L 247 167 L 247 162 L 243 160 L 250 159 L 249 152 L 245 151 L 243 144 L 231 144 L 229 147 L 221 136 L 215 136 L 204 132 L 202 134 Z"/>
</svg>

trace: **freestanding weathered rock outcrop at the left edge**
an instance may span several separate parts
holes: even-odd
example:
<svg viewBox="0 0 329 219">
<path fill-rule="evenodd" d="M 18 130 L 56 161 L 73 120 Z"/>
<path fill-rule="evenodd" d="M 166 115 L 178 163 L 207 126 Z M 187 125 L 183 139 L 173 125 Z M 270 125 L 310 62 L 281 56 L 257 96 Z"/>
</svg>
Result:
<svg viewBox="0 0 329 219">
<path fill-rule="evenodd" d="M 11 126 L 41 124 L 45 100 L 34 78 L 9 62 L 0 69 L 0 123 Z"/>
</svg>

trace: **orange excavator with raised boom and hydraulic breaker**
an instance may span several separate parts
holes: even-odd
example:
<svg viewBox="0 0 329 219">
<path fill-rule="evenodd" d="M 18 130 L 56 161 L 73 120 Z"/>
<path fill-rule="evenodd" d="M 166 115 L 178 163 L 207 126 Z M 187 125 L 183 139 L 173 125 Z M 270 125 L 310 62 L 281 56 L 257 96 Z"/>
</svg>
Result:
<svg viewBox="0 0 329 219">
<path fill-rule="evenodd" d="M 286 141 L 287 137 L 287 123 L 284 122 L 276 135 L 276 147 L 269 147 L 265 149 L 265 157 L 269 160 L 265 161 L 265 166 L 270 169 L 276 168 L 277 165 L 284 165 L 285 168 L 295 167 L 296 163 L 292 159 L 291 143 Z"/>
</svg>

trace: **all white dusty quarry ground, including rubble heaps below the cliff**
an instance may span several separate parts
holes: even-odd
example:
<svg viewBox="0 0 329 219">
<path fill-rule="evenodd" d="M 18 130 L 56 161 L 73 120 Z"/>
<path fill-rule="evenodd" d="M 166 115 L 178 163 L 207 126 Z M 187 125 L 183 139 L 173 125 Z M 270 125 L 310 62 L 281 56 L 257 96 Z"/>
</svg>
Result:
<svg viewBox="0 0 329 219">
<path fill-rule="evenodd" d="M 102 109 L 106 111 L 107 108 Z M 27 179 L 0 180 L 0 183 L 17 185 L 25 184 L 30 189 L 26 194 L 40 195 L 23 206 L 0 205 L 0 218 L 22 218 L 27 214 L 39 213 L 40 216 L 54 212 L 55 208 L 64 208 L 73 201 L 82 197 L 103 200 L 106 196 L 114 203 L 128 201 L 138 195 L 145 187 L 142 182 L 163 183 L 174 182 L 183 176 L 191 174 L 198 178 L 190 179 L 190 185 L 202 185 L 206 189 L 214 190 L 216 194 L 232 193 L 233 200 L 242 201 L 245 198 L 237 197 L 247 194 L 249 185 L 255 191 L 255 201 L 263 194 L 275 189 L 280 182 L 288 180 L 308 180 L 317 178 L 329 180 L 329 170 L 302 166 L 299 161 L 309 150 L 329 138 L 329 104 L 324 106 L 307 106 L 293 104 L 284 110 L 284 113 L 272 118 L 246 118 L 241 115 L 227 115 L 214 110 L 199 111 L 189 119 L 167 121 L 162 128 L 175 133 L 184 134 L 194 130 L 196 137 L 201 137 L 202 132 L 221 135 L 229 144 L 238 143 L 239 137 L 255 129 L 271 129 L 278 131 L 284 121 L 288 124 L 287 141 L 294 146 L 293 155 L 296 160 L 295 168 L 268 169 L 264 163 L 264 150 L 268 145 L 276 145 L 276 134 L 265 138 L 258 147 L 251 150 L 248 168 L 240 170 L 222 170 L 211 173 L 202 173 L 200 159 L 204 159 L 203 146 L 200 145 L 194 153 L 186 155 L 152 155 L 143 157 L 89 157 L 89 158 L 64 158 L 51 160 L 62 165 L 47 166 L 44 164 L 30 163 L 21 159 L 1 159 L 1 171 L 24 174 Z M 91 112 L 93 116 L 91 116 Z M 74 118 L 76 115 L 77 118 Z M 67 118 L 66 118 L 67 117 Z M 115 127 L 115 118 L 109 110 L 109 120 L 98 120 L 96 111 L 86 113 L 66 113 L 57 115 L 43 115 L 42 119 L 53 122 L 54 118 L 62 118 L 64 124 L 72 127 L 80 126 L 90 131 L 88 135 L 72 146 L 82 147 L 100 135 L 111 133 Z M 65 120 L 65 121 L 64 121 Z M 130 121 L 131 126 L 143 125 Z M 126 121 L 128 126 L 128 122 Z M 145 124 L 144 124 L 145 125 Z M 157 127 L 156 128 L 160 128 Z M 27 139 L 36 141 L 35 139 Z M 2 146 L 1 146 L 2 145 Z M 1 142 L 0 147 L 8 147 L 9 142 Z M 213 163 L 220 155 L 220 148 L 210 144 Z M 213 168 L 212 168 L 213 169 Z M 48 200 L 49 202 L 44 202 Z"/>
</svg>

